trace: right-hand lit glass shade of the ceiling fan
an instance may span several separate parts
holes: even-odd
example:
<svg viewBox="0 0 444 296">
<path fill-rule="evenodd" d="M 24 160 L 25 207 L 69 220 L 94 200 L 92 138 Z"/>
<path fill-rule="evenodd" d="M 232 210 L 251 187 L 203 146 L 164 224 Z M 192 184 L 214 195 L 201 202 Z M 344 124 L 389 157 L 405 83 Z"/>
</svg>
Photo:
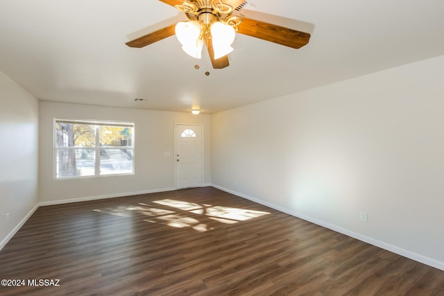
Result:
<svg viewBox="0 0 444 296">
<path fill-rule="evenodd" d="M 231 44 L 234 42 L 234 37 L 236 37 L 236 31 L 232 26 L 223 24 L 221 21 L 215 21 L 211 25 L 211 36 L 215 59 L 233 51 Z"/>
</svg>

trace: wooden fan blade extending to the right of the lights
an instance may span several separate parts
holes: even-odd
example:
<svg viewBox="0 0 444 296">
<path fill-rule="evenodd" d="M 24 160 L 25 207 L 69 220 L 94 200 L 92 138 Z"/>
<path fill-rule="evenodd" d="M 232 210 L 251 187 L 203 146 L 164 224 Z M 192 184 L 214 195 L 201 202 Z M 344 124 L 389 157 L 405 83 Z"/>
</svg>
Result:
<svg viewBox="0 0 444 296">
<path fill-rule="evenodd" d="M 274 42 L 284 46 L 300 49 L 310 40 L 310 34 L 296 31 L 290 28 L 265 23 L 264 21 L 256 21 L 243 17 L 239 25 L 238 33 L 256 37 L 269 42 Z"/>
</svg>

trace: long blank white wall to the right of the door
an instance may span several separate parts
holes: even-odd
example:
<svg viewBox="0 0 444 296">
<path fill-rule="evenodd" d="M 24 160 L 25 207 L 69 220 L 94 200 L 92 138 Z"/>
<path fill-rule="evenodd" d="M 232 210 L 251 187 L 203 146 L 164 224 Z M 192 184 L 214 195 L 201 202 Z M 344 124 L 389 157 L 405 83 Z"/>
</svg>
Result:
<svg viewBox="0 0 444 296">
<path fill-rule="evenodd" d="M 444 270 L 443 77 L 441 56 L 214 114 L 212 183 Z"/>
</svg>

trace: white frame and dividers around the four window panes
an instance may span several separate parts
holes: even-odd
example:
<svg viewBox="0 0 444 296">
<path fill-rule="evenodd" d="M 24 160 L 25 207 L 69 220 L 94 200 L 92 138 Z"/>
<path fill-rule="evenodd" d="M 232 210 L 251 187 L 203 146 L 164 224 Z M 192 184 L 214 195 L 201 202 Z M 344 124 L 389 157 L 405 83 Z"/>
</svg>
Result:
<svg viewBox="0 0 444 296">
<path fill-rule="evenodd" d="M 94 125 L 94 128 L 96 129 L 96 139 L 95 139 L 95 146 L 92 146 L 91 149 L 94 150 L 95 157 L 94 157 L 94 175 L 78 175 L 78 176 L 67 176 L 67 177 L 58 177 L 57 175 L 57 151 L 58 150 L 68 150 L 68 149 L 85 149 L 85 147 L 57 147 L 57 132 L 56 132 L 56 125 L 58 123 L 70 123 L 70 124 L 83 124 L 83 125 Z M 124 128 L 133 128 L 133 139 L 132 139 L 132 145 L 131 146 L 108 146 L 108 147 L 101 147 L 100 146 L 100 127 L 101 126 L 118 126 L 118 127 L 124 127 Z M 133 158 L 132 158 L 132 167 L 133 171 L 131 173 L 108 173 L 108 174 L 101 174 L 100 171 L 100 156 L 101 156 L 101 150 L 112 150 L 112 149 L 128 149 L 133 150 Z M 77 120 L 77 119 L 54 119 L 53 120 L 53 179 L 55 180 L 68 180 L 68 179 L 83 179 L 83 178 L 90 178 L 90 177 L 115 177 L 119 175 L 135 175 L 135 123 L 128 122 L 128 121 L 96 121 L 96 120 Z"/>
</svg>

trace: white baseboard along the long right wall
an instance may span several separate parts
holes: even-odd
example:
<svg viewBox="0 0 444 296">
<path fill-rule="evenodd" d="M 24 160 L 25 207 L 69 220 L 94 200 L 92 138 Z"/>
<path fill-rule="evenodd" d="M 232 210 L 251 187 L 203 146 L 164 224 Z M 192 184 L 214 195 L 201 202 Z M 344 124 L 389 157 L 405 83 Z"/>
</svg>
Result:
<svg viewBox="0 0 444 296">
<path fill-rule="evenodd" d="M 285 214 L 289 214 L 291 216 L 295 216 L 297 218 L 301 218 L 302 220 L 306 220 L 306 221 L 308 221 L 310 223 L 314 223 L 316 225 L 320 225 L 322 227 L 325 227 L 325 228 L 328 228 L 328 229 L 332 229 L 335 232 L 339 232 L 341 234 L 345 234 L 346 236 L 350 236 L 352 238 L 356 238 L 359 241 L 364 241 L 365 243 L 369 243 L 370 245 L 375 245 L 375 246 L 380 247 L 380 248 L 382 248 L 384 250 L 387 250 L 387 251 L 393 252 L 395 254 L 407 257 L 407 258 L 412 259 L 414 261 L 418 261 L 420 263 L 424 263 L 424 264 L 432 266 L 434 268 L 438 268 L 440 270 L 444 270 L 444 262 L 437 261 L 437 260 L 429 258 L 427 256 L 423 256 L 421 254 L 417 254 L 415 252 L 411 252 L 409 250 L 405 250 L 402 247 L 397 247 L 395 245 L 391 245 L 389 243 L 385 243 L 384 241 L 379 241 L 379 240 L 377 240 L 375 238 L 371 238 L 369 236 L 364 236 L 363 234 L 359 234 L 357 232 L 352 232 L 352 231 L 350 231 L 348 229 L 345 229 L 343 227 L 339 227 L 337 225 L 332 225 L 332 224 L 326 223 L 326 222 L 324 222 L 322 220 L 318 220 L 316 218 L 311 218 L 311 217 L 309 217 L 307 215 L 300 214 L 300 213 L 297 213 L 295 211 L 291 211 L 289 209 L 285 209 L 283 207 L 279 207 L 279 206 L 277 206 L 275 204 L 272 204 L 270 202 L 265 202 L 264 200 L 258 200 L 257 198 L 253 198 L 253 197 L 251 197 L 249 195 L 245 195 L 243 193 L 232 191 L 232 190 L 227 189 L 227 188 L 222 187 L 222 186 L 218 186 L 218 185 L 215 185 L 215 184 L 212 184 L 211 186 L 213 186 L 214 188 L 220 189 L 222 191 L 225 191 L 225 192 L 237 195 L 237 196 L 239 196 L 241 198 L 245 198 L 247 200 L 251 200 L 253 202 L 257 202 L 258 204 L 263 204 L 266 207 L 271 207 L 271 209 L 282 211 Z"/>
</svg>

